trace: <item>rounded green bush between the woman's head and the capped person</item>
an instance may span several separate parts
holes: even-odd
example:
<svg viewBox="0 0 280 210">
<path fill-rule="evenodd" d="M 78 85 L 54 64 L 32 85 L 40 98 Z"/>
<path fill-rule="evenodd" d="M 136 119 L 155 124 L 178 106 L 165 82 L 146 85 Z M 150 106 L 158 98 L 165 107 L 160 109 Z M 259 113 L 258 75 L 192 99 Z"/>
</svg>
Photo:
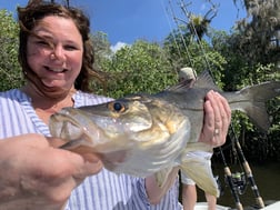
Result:
<svg viewBox="0 0 280 210">
<path fill-rule="evenodd" d="M 162 48 L 143 40 L 121 48 L 107 57 L 101 66 L 108 73 L 108 96 L 113 98 L 136 92 L 158 92 L 177 81 L 177 72 Z"/>
</svg>

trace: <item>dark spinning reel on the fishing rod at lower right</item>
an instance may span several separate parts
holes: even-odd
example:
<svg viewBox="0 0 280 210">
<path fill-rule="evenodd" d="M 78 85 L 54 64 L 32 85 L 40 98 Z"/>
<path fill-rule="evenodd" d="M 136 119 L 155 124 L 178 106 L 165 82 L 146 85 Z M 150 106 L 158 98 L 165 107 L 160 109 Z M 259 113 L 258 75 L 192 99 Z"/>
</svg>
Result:
<svg viewBox="0 0 280 210">
<path fill-rule="evenodd" d="M 239 194 L 243 194 L 247 188 L 247 179 L 244 172 L 231 173 L 232 184 L 229 183 L 229 179 L 226 176 L 226 184 L 233 188 Z"/>
</svg>

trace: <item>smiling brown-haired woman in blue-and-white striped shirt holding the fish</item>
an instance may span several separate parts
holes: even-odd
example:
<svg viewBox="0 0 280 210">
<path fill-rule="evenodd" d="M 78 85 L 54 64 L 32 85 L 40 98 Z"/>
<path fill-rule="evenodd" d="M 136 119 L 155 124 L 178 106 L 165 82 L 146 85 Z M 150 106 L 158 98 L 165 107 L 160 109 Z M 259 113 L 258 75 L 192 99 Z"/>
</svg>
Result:
<svg viewBox="0 0 280 210">
<path fill-rule="evenodd" d="M 153 176 L 146 179 L 117 176 L 101 169 L 93 154 L 84 154 L 82 159 L 48 144 L 59 144 L 58 140 L 44 138 L 50 137 L 47 124 L 52 113 L 63 107 L 111 99 L 84 92 L 90 72 L 94 71 L 89 20 L 80 10 L 31 1 L 19 8 L 18 13 L 19 61 L 27 84 L 0 93 L 0 139 L 6 138 L 0 148 L 6 148 L 3 154 L 0 151 L 0 209 L 181 209 L 177 201 L 177 169 L 166 186 L 158 188 Z M 222 134 L 229 126 L 228 103 L 211 91 L 206 113 L 201 141 L 219 146 L 224 142 Z M 220 136 L 213 137 L 214 126 Z M 9 178 L 10 172 L 17 176 Z"/>
</svg>

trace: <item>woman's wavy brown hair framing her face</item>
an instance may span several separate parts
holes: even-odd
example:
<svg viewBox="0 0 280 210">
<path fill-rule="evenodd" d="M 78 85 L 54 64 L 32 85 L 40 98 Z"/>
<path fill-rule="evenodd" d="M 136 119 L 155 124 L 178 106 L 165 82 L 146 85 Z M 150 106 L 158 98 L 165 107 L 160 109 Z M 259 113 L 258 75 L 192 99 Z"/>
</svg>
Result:
<svg viewBox="0 0 280 210">
<path fill-rule="evenodd" d="M 24 77 L 30 81 L 33 81 L 37 77 L 27 62 L 27 40 L 30 34 L 36 36 L 31 31 L 38 24 L 38 21 L 48 16 L 70 18 L 78 28 L 83 42 L 83 57 L 81 71 L 76 79 L 74 88 L 82 91 L 90 91 L 90 78 L 94 77 L 100 79 L 100 76 L 93 69 L 93 44 L 90 39 L 89 18 L 77 8 L 66 7 L 54 2 L 30 0 L 27 7 L 18 8 L 18 19 L 20 24 L 19 62 L 22 67 Z"/>
</svg>

